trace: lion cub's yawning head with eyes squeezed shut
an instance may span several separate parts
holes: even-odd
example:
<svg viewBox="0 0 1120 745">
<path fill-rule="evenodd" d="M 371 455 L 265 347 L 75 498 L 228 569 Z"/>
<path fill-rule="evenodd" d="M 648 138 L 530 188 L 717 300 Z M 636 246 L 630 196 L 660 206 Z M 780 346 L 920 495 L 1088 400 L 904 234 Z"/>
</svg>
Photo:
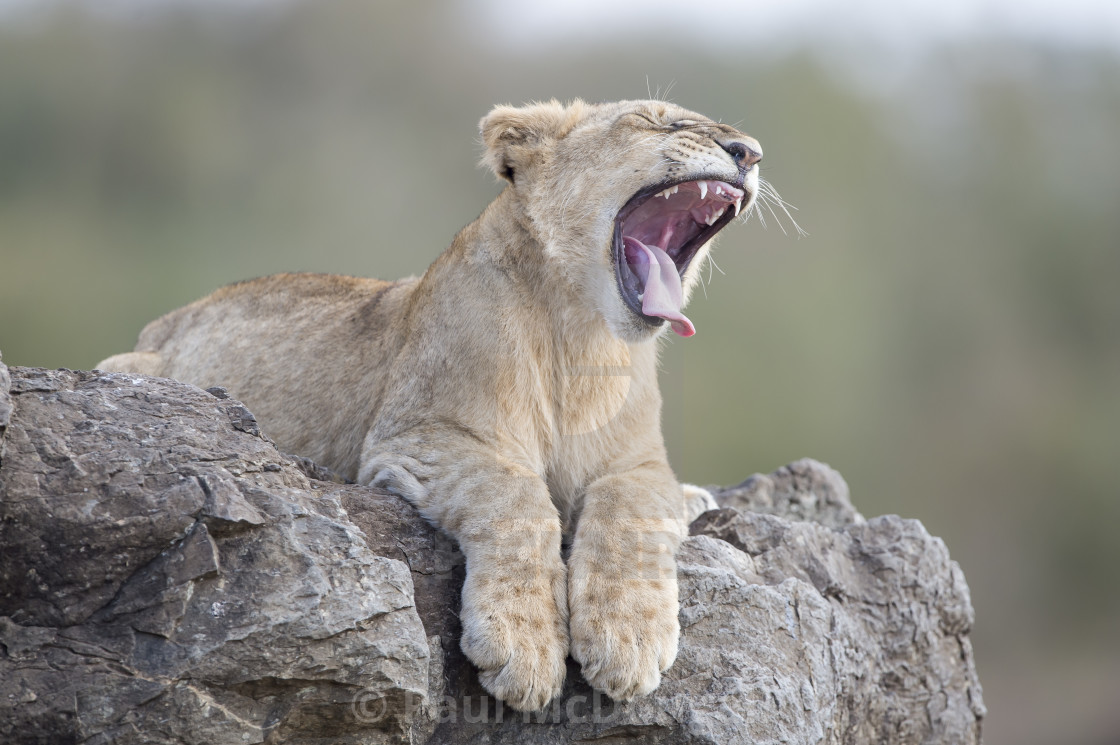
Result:
<svg viewBox="0 0 1120 745">
<path fill-rule="evenodd" d="M 558 279 L 616 336 L 694 333 L 682 307 L 711 240 L 754 205 L 757 140 L 663 101 L 497 106 L 482 136 Z"/>
</svg>

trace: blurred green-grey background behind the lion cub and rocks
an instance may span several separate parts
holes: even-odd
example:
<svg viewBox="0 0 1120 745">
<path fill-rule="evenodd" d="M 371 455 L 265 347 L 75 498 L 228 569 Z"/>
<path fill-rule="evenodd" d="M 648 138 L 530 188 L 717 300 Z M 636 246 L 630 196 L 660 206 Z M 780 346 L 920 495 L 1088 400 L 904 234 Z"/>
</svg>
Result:
<svg viewBox="0 0 1120 745">
<path fill-rule="evenodd" d="M 1120 3 L 0 0 L 0 350 L 91 367 L 288 270 L 419 273 L 495 103 L 669 97 L 809 236 L 716 252 L 674 467 L 830 463 L 960 561 L 990 745 L 1120 743 Z"/>
</svg>

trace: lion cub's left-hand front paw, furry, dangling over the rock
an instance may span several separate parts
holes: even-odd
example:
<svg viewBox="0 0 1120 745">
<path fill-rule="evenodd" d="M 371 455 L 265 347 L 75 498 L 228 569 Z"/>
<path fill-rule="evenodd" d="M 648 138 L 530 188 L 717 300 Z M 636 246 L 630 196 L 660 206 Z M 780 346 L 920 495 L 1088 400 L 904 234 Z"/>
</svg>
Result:
<svg viewBox="0 0 1120 745">
<path fill-rule="evenodd" d="M 520 711 L 560 693 L 568 656 L 563 565 L 532 574 L 498 580 L 468 571 L 463 588 L 463 651 L 486 690 Z"/>
</svg>

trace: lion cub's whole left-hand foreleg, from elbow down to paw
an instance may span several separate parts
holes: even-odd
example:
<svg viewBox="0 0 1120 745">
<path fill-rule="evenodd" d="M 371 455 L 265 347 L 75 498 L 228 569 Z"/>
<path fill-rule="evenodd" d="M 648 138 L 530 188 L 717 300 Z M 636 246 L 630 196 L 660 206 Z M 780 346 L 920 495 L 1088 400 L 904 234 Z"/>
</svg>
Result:
<svg viewBox="0 0 1120 745">
<path fill-rule="evenodd" d="M 421 457 L 379 453 L 358 479 L 409 499 L 458 540 L 463 651 L 486 690 L 515 709 L 541 709 L 560 693 L 568 656 L 560 516 L 548 487 L 474 440 L 445 436 L 437 448 L 424 439 Z"/>
</svg>

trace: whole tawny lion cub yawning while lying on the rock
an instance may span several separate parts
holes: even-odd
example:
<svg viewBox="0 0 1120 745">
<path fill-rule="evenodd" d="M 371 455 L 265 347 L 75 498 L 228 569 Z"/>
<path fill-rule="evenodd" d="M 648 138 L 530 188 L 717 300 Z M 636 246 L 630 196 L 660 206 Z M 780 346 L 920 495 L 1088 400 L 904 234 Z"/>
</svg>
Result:
<svg viewBox="0 0 1120 745">
<path fill-rule="evenodd" d="M 694 333 L 683 307 L 762 149 L 660 101 L 497 106 L 482 137 L 508 184 L 423 277 L 233 285 L 100 367 L 224 385 L 280 448 L 454 536 L 463 651 L 508 705 L 548 704 L 569 652 L 629 699 L 680 630 L 657 337 Z"/>
</svg>

